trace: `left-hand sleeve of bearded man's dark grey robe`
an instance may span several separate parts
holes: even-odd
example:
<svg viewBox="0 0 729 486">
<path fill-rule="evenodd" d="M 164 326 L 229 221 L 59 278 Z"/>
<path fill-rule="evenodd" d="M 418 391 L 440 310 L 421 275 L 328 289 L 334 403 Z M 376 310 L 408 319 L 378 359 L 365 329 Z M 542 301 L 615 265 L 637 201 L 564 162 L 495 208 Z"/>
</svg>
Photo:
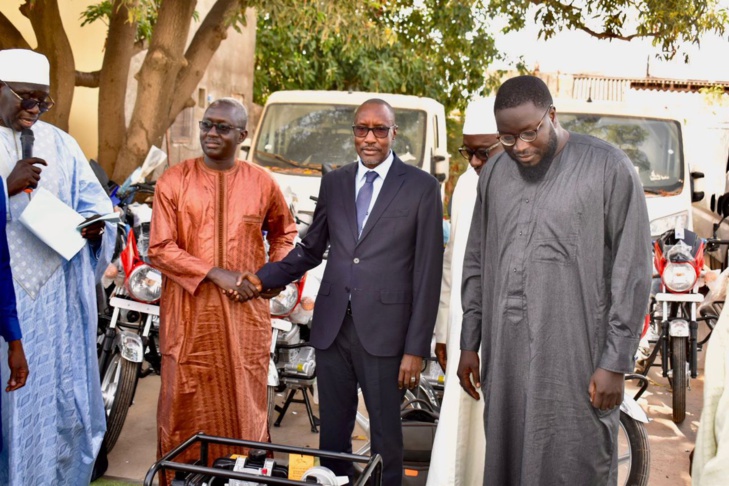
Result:
<svg viewBox="0 0 729 486">
<path fill-rule="evenodd" d="M 486 171 L 484 171 L 486 172 Z M 463 277 L 461 284 L 461 305 L 463 306 L 463 323 L 461 325 L 461 350 L 478 351 L 481 346 L 482 311 L 482 275 L 481 258 L 483 257 L 485 183 L 487 178 L 481 174 L 478 180 L 478 196 L 473 208 L 471 230 L 468 233 L 468 245 L 463 257 Z"/>
</svg>

